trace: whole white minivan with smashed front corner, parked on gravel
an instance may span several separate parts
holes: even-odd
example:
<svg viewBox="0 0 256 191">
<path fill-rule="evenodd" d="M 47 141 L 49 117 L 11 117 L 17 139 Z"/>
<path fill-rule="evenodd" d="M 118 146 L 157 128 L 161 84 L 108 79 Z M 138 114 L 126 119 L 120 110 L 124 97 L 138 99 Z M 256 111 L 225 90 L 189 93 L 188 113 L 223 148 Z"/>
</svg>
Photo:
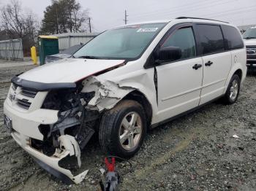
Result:
<svg viewBox="0 0 256 191">
<path fill-rule="evenodd" d="M 132 157 L 147 130 L 217 98 L 236 102 L 246 49 L 235 26 L 192 17 L 113 28 L 61 61 L 12 78 L 4 123 L 51 174 L 79 183 L 61 161 L 94 133 L 109 155 Z"/>
</svg>

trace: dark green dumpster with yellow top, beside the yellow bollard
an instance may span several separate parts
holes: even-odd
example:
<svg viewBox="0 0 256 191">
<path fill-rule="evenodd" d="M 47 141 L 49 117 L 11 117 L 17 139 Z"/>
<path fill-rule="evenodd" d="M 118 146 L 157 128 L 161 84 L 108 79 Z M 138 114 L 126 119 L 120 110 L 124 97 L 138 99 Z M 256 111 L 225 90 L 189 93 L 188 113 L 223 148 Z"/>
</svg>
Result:
<svg viewBox="0 0 256 191">
<path fill-rule="evenodd" d="M 45 64 L 45 57 L 47 55 L 59 53 L 58 37 L 41 35 L 38 37 L 38 42 L 40 65 Z"/>
</svg>

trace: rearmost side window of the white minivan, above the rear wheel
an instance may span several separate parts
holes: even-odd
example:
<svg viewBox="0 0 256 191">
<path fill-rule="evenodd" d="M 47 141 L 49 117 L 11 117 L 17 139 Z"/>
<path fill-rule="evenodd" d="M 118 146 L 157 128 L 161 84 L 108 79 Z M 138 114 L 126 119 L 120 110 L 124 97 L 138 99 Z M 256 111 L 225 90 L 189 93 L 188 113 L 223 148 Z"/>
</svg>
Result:
<svg viewBox="0 0 256 191">
<path fill-rule="evenodd" d="M 233 50 L 244 47 L 244 42 L 240 32 L 232 26 L 222 26 L 225 39 L 225 47 L 227 50 Z"/>
</svg>

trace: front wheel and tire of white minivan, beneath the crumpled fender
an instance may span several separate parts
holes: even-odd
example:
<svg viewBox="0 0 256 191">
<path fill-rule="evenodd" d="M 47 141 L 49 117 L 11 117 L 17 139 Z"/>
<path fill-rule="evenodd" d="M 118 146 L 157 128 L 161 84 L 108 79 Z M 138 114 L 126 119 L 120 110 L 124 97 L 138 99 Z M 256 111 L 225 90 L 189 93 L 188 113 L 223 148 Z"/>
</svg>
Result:
<svg viewBox="0 0 256 191">
<path fill-rule="evenodd" d="M 135 125 L 132 125 L 132 119 L 135 119 L 136 115 L 138 117 L 133 120 Z M 143 107 L 137 101 L 121 101 L 102 115 L 99 125 L 99 144 L 108 155 L 132 157 L 143 144 L 146 128 L 146 114 Z"/>
</svg>

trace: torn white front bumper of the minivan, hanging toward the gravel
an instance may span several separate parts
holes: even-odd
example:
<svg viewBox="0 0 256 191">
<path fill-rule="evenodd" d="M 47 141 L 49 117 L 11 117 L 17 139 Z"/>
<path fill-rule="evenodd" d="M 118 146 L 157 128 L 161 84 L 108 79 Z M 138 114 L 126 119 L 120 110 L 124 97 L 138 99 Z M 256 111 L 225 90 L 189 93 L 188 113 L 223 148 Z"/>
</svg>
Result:
<svg viewBox="0 0 256 191">
<path fill-rule="evenodd" d="M 50 157 L 31 147 L 31 137 L 36 136 L 37 139 L 42 139 L 42 134 L 38 130 L 38 125 L 42 124 L 42 122 L 45 124 L 56 122 L 58 119 L 58 112 L 50 109 L 38 109 L 40 111 L 36 110 L 31 113 L 20 114 L 20 112 L 12 109 L 10 103 L 7 102 L 9 101 L 4 101 L 4 114 L 12 119 L 11 135 L 13 139 L 15 139 L 15 141 L 20 145 L 20 147 L 28 152 L 29 155 L 31 155 L 42 168 L 44 168 L 50 174 L 60 178 L 64 183 L 78 184 L 82 182 L 88 173 L 88 170 L 83 171 L 77 176 L 73 176 L 71 171 L 59 166 L 60 160 L 62 160 L 64 157 L 73 155 L 78 158 L 78 166 L 80 166 L 80 148 L 74 137 L 69 135 L 60 136 L 60 147 L 56 149 L 56 152 Z M 33 119 L 33 121 L 31 121 L 31 119 Z M 30 128 L 30 132 L 29 130 L 26 130 L 26 128 Z M 31 130 L 36 130 L 37 132 L 31 132 Z M 24 132 L 26 132 L 26 135 Z"/>
</svg>

